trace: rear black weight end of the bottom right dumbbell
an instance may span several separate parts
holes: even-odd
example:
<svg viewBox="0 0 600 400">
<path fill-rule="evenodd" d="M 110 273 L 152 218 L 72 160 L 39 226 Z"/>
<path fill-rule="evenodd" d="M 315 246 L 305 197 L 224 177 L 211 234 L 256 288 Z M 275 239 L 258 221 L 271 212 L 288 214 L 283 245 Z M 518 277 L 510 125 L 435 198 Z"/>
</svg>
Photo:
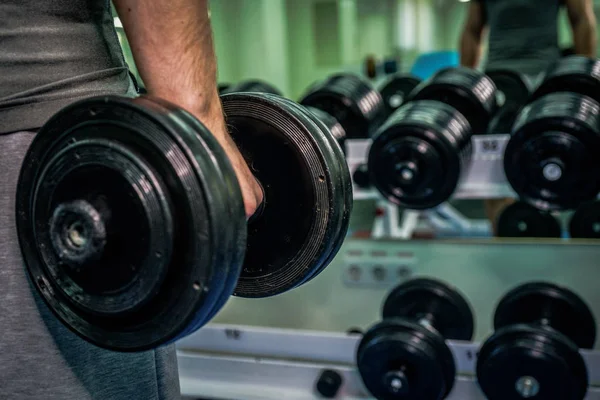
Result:
<svg viewBox="0 0 600 400">
<path fill-rule="evenodd" d="M 495 329 L 540 321 L 581 348 L 594 346 L 596 322 L 592 312 L 579 296 L 564 287 L 546 282 L 521 285 L 502 297 L 494 314 Z"/>
</svg>

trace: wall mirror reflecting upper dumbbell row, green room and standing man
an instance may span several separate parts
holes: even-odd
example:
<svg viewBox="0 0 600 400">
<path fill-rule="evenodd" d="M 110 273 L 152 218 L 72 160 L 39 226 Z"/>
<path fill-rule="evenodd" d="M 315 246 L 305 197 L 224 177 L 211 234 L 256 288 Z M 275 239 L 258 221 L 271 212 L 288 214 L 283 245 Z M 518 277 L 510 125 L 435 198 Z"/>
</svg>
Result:
<svg viewBox="0 0 600 400">
<path fill-rule="evenodd" d="M 597 239 L 599 6 L 211 1 L 219 90 L 333 117 L 357 237 Z"/>
</svg>

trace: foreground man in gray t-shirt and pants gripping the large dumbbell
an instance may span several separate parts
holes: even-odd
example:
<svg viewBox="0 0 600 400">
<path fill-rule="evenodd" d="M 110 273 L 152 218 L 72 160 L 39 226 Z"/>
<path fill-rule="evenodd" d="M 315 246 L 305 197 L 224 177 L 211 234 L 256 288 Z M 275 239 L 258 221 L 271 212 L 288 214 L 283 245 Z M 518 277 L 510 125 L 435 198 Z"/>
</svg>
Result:
<svg viewBox="0 0 600 400">
<path fill-rule="evenodd" d="M 208 0 L 114 0 L 148 92 L 196 115 L 225 148 L 252 214 L 262 191 L 226 131 Z M 15 188 L 34 132 L 63 106 L 134 95 L 108 1 L 0 2 L 0 398 L 180 398 L 173 346 L 95 347 L 32 293 L 15 228 Z"/>
</svg>

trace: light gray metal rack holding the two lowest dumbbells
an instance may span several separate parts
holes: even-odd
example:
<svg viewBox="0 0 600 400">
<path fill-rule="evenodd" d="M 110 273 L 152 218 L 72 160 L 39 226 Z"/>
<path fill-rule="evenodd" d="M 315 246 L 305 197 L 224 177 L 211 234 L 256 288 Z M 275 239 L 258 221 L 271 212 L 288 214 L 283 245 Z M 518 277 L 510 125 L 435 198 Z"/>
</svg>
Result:
<svg viewBox="0 0 600 400">
<path fill-rule="evenodd" d="M 181 392 L 185 398 L 322 399 L 315 385 L 323 370 L 339 373 L 336 399 L 370 399 L 355 367 L 360 336 L 238 325 L 209 324 L 178 342 Z M 448 342 L 458 371 L 448 400 L 485 400 L 475 380 L 478 343 Z M 600 400 L 600 352 L 581 351 L 590 387 L 586 400 Z"/>
</svg>

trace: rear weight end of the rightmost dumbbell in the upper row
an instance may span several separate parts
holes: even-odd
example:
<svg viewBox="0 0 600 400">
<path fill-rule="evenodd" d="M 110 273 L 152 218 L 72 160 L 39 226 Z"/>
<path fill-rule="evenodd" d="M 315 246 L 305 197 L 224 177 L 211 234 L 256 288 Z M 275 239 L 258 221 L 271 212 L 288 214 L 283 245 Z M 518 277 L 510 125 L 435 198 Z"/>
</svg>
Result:
<svg viewBox="0 0 600 400">
<path fill-rule="evenodd" d="M 600 103 L 600 60 L 584 56 L 558 60 L 547 71 L 533 99 L 556 92 L 578 93 Z"/>
</svg>

